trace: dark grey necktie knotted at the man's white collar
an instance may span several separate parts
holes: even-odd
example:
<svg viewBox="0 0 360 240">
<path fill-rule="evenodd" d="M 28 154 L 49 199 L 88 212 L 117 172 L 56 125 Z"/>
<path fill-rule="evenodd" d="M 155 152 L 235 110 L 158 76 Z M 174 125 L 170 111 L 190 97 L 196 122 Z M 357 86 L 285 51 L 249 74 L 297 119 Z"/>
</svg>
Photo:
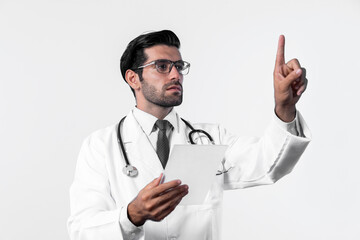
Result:
<svg viewBox="0 0 360 240">
<path fill-rule="evenodd" d="M 159 129 L 158 140 L 156 143 L 156 153 L 161 161 L 163 168 L 165 169 L 167 160 L 169 158 L 169 139 L 166 136 L 166 129 L 171 126 L 167 120 L 157 120 L 155 123 Z"/>
</svg>

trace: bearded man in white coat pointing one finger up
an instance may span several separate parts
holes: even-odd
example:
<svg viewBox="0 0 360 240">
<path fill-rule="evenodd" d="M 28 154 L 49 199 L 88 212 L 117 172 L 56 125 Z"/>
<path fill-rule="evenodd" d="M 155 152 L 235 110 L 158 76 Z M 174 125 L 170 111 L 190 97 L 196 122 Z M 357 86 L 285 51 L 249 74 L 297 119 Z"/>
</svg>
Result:
<svg viewBox="0 0 360 240">
<path fill-rule="evenodd" d="M 238 137 L 216 124 L 191 124 L 209 133 L 215 144 L 229 145 L 222 166 L 227 172 L 216 177 L 202 205 L 179 206 L 191 188 L 181 180 L 160 180 L 171 147 L 189 142 L 191 129 L 173 107 L 182 102 L 190 64 L 182 60 L 180 41 L 171 31 L 132 40 L 120 67 L 136 107 L 120 126 L 98 130 L 84 141 L 70 189 L 70 238 L 220 239 L 223 190 L 276 182 L 292 170 L 310 141 L 295 108 L 306 89 L 305 69 L 296 59 L 285 63 L 284 44 L 280 36 L 275 114 L 262 138 Z M 195 141 L 207 141 L 195 135 Z M 135 176 L 124 174 L 125 156 L 136 166 Z"/>
</svg>

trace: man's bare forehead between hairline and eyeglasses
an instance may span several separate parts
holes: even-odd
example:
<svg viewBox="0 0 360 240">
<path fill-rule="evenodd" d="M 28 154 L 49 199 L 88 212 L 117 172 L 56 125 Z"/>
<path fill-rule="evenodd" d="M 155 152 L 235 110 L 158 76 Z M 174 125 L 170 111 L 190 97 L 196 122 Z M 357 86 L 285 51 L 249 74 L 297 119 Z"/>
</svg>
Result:
<svg viewBox="0 0 360 240">
<path fill-rule="evenodd" d="M 155 45 L 144 50 L 148 57 L 148 62 L 157 59 L 169 59 L 171 61 L 177 61 L 181 59 L 179 49 L 167 45 Z"/>
</svg>

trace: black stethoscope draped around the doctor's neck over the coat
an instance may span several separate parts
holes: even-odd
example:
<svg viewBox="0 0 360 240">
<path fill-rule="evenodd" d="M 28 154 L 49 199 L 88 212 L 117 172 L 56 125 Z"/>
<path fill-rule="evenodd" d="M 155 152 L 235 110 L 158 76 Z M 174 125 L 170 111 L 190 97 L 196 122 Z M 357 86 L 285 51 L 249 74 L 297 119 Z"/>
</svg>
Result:
<svg viewBox="0 0 360 240">
<path fill-rule="evenodd" d="M 130 164 L 128 156 L 127 156 L 126 151 L 125 151 L 124 143 L 123 143 L 122 138 L 121 138 L 121 133 L 120 133 L 121 124 L 123 123 L 125 118 L 126 118 L 126 116 L 123 117 L 119 122 L 119 125 L 118 125 L 118 128 L 117 128 L 117 141 L 119 143 L 122 155 L 124 156 L 124 159 L 125 159 L 125 167 L 123 168 L 123 173 L 125 175 L 129 176 L 129 177 L 136 177 L 138 175 L 139 171 L 137 170 L 137 168 L 135 166 L 132 166 Z M 202 133 L 208 138 L 208 140 L 211 142 L 211 144 L 215 145 L 215 142 L 214 142 L 213 138 L 211 137 L 211 135 L 209 133 L 207 133 L 206 131 L 204 131 L 202 129 L 195 129 L 193 126 L 191 126 L 191 124 L 188 121 L 186 121 L 183 118 L 181 118 L 181 120 L 186 124 L 186 126 L 188 126 L 191 129 L 191 131 L 189 132 L 189 135 L 188 135 L 191 144 L 195 144 L 195 142 L 193 140 L 193 135 L 195 133 L 198 133 L 198 134 Z M 224 161 L 222 161 L 222 167 L 223 167 L 222 171 L 218 170 L 216 175 L 221 175 L 221 174 L 226 173 L 228 171 L 228 170 L 225 169 Z"/>
</svg>

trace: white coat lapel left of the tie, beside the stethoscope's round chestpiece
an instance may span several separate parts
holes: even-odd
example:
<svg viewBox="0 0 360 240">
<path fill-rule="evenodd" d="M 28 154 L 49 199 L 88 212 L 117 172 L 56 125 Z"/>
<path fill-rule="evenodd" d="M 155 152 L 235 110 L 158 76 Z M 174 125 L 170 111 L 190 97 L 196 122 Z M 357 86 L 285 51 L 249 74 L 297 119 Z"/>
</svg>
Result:
<svg viewBox="0 0 360 240">
<path fill-rule="evenodd" d="M 163 167 L 155 149 L 132 112 L 125 119 L 123 132 L 124 145 L 130 164 L 138 167 L 139 174 L 141 174 L 140 170 L 142 170 L 148 172 L 153 178 L 158 177 L 163 172 Z"/>
</svg>

